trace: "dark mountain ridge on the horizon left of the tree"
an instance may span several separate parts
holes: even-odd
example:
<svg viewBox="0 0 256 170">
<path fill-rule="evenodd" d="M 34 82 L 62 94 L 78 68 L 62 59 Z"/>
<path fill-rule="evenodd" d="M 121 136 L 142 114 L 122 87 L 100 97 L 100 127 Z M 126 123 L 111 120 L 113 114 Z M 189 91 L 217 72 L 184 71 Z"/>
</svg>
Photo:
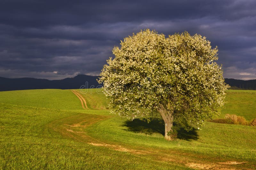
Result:
<svg viewBox="0 0 256 170">
<path fill-rule="evenodd" d="M 79 74 L 74 78 L 66 78 L 62 80 L 47 80 L 35 78 L 4 78 L 0 77 L 0 91 L 9 90 L 27 90 L 27 89 L 79 89 L 98 88 L 100 84 L 97 82 L 99 76 L 90 76 Z"/>
</svg>

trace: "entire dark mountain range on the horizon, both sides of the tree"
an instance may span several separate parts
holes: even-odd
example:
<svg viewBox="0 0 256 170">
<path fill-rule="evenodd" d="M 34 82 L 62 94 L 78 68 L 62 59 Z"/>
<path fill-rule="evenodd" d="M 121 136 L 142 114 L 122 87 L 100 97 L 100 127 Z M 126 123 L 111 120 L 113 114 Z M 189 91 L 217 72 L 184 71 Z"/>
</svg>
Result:
<svg viewBox="0 0 256 170">
<path fill-rule="evenodd" d="M 4 78 L 0 77 L 0 91 L 26 90 L 26 89 L 79 89 L 99 88 L 102 84 L 97 82 L 99 76 L 90 76 L 79 74 L 74 78 L 62 80 L 47 80 L 35 78 Z M 230 89 L 256 90 L 256 80 L 236 80 L 225 79 L 225 82 L 231 86 Z"/>
</svg>

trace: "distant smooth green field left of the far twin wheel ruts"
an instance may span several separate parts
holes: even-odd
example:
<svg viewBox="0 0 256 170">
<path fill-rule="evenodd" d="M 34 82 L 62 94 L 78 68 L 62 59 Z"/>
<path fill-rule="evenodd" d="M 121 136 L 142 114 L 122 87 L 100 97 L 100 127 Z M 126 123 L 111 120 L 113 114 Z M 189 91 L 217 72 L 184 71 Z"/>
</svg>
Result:
<svg viewBox="0 0 256 170">
<path fill-rule="evenodd" d="M 83 109 L 71 90 L 60 89 L 1 91 L 0 103 L 62 110 Z"/>
</svg>

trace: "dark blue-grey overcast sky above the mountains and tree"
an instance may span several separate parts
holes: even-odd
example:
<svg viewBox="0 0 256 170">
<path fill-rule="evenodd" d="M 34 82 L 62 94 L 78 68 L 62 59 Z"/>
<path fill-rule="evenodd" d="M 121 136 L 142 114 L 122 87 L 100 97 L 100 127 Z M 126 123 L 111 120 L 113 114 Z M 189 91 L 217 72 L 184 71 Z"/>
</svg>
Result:
<svg viewBox="0 0 256 170">
<path fill-rule="evenodd" d="M 256 1 L 0 1 L 0 76 L 98 75 L 140 29 L 200 34 L 219 48 L 224 77 L 256 79 Z"/>
</svg>

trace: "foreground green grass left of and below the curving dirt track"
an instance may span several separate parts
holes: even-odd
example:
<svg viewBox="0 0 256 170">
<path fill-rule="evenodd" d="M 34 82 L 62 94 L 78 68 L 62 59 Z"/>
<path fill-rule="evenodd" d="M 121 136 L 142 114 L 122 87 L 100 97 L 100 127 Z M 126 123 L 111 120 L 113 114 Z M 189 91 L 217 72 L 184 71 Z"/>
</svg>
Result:
<svg viewBox="0 0 256 170">
<path fill-rule="evenodd" d="M 165 169 L 170 165 L 147 158 L 96 147 L 56 132 L 49 124 L 60 118 L 76 116 L 47 108 L 1 104 L 0 167 L 1 169 Z M 72 120 L 72 119 L 71 119 Z M 68 122 L 66 122 L 68 123 Z M 64 131 L 65 132 L 65 131 Z"/>
</svg>

